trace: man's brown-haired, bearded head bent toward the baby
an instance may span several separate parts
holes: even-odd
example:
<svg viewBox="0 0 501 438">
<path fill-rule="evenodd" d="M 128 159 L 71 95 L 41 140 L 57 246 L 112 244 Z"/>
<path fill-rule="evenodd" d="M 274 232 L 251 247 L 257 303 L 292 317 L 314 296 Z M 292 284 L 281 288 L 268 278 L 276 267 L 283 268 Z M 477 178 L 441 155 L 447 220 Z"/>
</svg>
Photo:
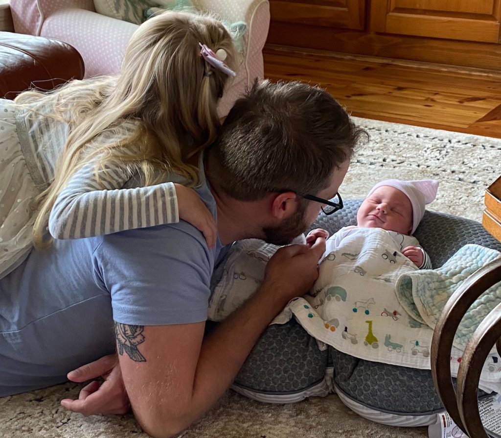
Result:
<svg viewBox="0 0 501 438">
<path fill-rule="evenodd" d="M 293 194 L 294 211 L 263 227 L 263 238 L 287 243 L 322 205 L 302 195 L 334 197 L 363 134 L 325 90 L 297 81 L 257 81 L 225 119 L 210 149 L 209 177 L 238 201 Z M 317 204 L 315 214 L 311 203 Z"/>
</svg>

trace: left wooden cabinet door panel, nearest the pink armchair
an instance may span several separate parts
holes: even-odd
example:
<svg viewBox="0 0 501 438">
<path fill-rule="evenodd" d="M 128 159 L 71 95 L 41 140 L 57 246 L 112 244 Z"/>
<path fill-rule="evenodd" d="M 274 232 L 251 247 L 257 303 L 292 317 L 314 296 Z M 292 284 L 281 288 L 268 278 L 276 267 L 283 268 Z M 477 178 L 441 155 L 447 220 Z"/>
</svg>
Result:
<svg viewBox="0 0 501 438">
<path fill-rule="evenodd" d="M 365 28 L 362 0 L 270 0 L 272 21 L 342 29 Z"/>
</svg>

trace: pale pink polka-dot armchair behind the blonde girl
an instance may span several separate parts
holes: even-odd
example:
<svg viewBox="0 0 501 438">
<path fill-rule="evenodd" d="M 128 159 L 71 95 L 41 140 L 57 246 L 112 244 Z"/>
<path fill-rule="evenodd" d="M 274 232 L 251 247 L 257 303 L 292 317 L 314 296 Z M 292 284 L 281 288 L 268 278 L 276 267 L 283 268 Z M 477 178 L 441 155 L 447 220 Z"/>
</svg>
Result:
<svg viewBox="0 0 501 438">
<path fill-rule="evenodd" d="M 225 115 L 254 79 L 263 77 L 269 1 L 193 0 L 193 4 L 221 19 L 247 24 L 237 76 L 219 104 L 220 115 Z M 97 14 L 94 0 L 15 0 L 11 2 L 11 11 L 17 33 L 56 38 L 75 47 L 84 59 L 85 77 L 118 72 L 125 46 L 137 28 L 132 23 Z"/>
</svg>

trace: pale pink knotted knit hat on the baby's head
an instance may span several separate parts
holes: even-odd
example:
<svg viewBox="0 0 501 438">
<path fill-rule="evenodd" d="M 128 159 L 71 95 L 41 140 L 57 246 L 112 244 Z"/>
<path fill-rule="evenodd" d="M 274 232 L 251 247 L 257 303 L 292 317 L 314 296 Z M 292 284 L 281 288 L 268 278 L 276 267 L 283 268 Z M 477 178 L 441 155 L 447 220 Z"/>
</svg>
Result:
<svg viewBox="0 0 501 438">
<path fill-rule="evenodd" d="M 403 192 L 412 204 L 412 231 L 414 234 L 419 222 L 424 216 L 425 205 L 432 202 L 437 196 L 438 181 L 437 180 L 417 180 L 417 181 L 401 181 L 401 180 L 384 180 L 377 183 L 367 194 L 369 196 L 374 190 L 381 186 L 390 186 Z"/>
</svg>

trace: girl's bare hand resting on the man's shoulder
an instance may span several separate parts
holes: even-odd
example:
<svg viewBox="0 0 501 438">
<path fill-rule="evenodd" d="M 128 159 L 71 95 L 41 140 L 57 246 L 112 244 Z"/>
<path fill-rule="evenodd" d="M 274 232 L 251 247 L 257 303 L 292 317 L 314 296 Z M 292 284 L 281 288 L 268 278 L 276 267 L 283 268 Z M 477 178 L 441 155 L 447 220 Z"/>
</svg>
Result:
<svg viewBox="0 0 501 438">
<path fill-rule="evenodd" d="M 179 219 L 185 220 L 198 228 L 205 237 L 207 246 L 212 248 L 217 238 L 217 226 L 214 216 L 193 189 L 182 184 L 174 184 L 174 187 L 176 188 Z"/>
</svg>

